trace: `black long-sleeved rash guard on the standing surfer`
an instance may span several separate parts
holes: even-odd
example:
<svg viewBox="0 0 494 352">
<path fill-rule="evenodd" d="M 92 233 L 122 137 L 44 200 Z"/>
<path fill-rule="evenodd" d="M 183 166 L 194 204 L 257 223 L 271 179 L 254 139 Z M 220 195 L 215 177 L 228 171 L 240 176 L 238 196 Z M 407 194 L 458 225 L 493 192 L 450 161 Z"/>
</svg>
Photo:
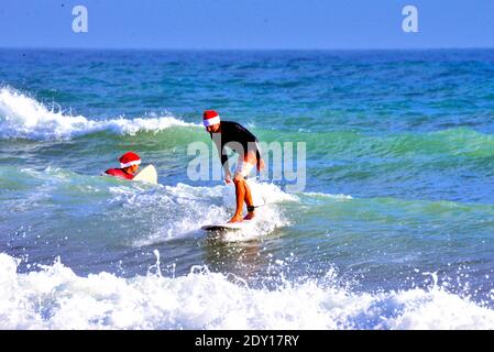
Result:
<svg viewBox="0 0 494 352">
<path fill-rule="evenodd" d="M 257 139 L 240 123 L 232 121 L 221 121 L 221 133 L 209 134 L 211 135 L 211 140 L 215 142 L 218 148 L 218 154 L 221 158 L 221 165 L 224 165 L 224 162 L 228 161 L 228 156 L 223 154 L 224 146 L 228 146 L 240 155 L 251 151 L 255 152 L 259 166 L 261 154 L 257 145 Z M 242 150 L 239 150 L 239 145 L 242 146 Z"/>
</svg>

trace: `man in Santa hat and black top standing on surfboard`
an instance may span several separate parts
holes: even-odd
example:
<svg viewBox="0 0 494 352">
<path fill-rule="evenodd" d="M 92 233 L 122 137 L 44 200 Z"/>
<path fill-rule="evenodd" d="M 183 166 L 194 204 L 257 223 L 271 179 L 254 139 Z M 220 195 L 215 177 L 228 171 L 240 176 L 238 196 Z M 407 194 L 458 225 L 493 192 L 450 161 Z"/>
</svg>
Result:
<svg viewBox="0 0 494 352">
<path fill-rule="evenodd" d="M 226 183 L 229 184 L 233 182 L 235 185 L 237 210 L 228 222 L 232 223 L 241 222 L 242 220 L 252 220 L 255 217 L 255 207 L 254 201 L 252 200 L 251 188 L 245 182 L 245 178 L 254 166 L 256 166 L 257 172 L 261 172 L 264 168 L 257 139 L 240 123 L 220 121 L 220 116 L 215 110 L 206 110 L 204 112 L 202 122 L 206 127 L 206 131 L 209 132 L 211 140 L 218 148 L 221 165 L 224 169 Z M 224 152 L 226 146 L 239 154 L 233 178 L 228 165 L 228 156 Z M 248 208 L 248 213 L 245 218 L 242 219 L 244 202 Z"/>
</svg>

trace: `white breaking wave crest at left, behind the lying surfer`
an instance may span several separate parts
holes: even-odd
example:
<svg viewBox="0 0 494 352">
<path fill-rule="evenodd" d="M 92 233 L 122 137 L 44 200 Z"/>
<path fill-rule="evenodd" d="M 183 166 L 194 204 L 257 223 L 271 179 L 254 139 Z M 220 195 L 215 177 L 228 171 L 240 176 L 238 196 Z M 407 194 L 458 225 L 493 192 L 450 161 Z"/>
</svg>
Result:
<svg viewBox="0 0 494 352">
<path fill-rule="evenodd" d="M 0 88 L 0 138 L 58 140 L 101 131 L 116 134 L 158 132 L 172 127 L 199 124 L 187 123 L 172 116 L 94 121 L 83 116 L 69 116 L 48 109 L 10 87 Z"/>
</svg>

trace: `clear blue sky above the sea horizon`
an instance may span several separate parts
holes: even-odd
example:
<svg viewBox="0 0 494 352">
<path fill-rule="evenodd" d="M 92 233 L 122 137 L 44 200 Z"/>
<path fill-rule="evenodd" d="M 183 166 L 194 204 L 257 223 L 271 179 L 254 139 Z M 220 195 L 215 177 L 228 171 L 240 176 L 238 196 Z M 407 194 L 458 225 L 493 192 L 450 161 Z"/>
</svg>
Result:
<svg viewBox="0 0 494 352">
<path fill-rule="evenodd" d="M 72 30 L 77 4 L 88 33 Z M 418 33 L 402 30 L 407 4 Z M 0 47 L 494 47 L 494 0 L 2 0 Z"/>
</svg>

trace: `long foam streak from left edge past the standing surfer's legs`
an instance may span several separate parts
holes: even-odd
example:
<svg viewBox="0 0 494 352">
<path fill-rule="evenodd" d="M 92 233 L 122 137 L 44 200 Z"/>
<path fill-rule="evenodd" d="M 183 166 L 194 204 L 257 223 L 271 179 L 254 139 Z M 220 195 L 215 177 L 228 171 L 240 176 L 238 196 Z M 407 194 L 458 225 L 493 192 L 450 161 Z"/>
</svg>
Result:
<svg viewBox="0 0 494 352">
<path fill-rule="evenodd" d="M 0 168 L 0 172 L 7 169 Z M 232 185 L 212 187 L 187 184 L 150 186 L 141 183 L 116 183 L 116 179 L 78 175 L 62 168 L 35 170 L 8 167 L 19 183 L 32 188 L 22 199 L 7 201 L 8 212 L 46 211 L 53 205 L 53 198 L 69 200 L 70 206 L 78 204 L 80 211 L 105 212 L 108 221 L 121 222 L 122 219 L 135 219 L 143 226 L 143 233 L 132 239 L 135 246 L 162 243 L 184 237 L 205 235 L 200 228 L 206 224 L 227 222 L 234 212 L 235 195 Z M 275 229 L 289 224 L 282 202 L 294 201 L 273 184 L 250 182 L 252 190 L 263 195 L 266 205 L 257 209 L 256 226 L 229 238 L 231 241 L 244 241 L 266 235 Z M 20 184 L 17 184 L 19 187 Z M 264 200 L 263 200 L 264 201 Z M 76 211 L 76 210 L 74 210 Z"/>
</svg>

